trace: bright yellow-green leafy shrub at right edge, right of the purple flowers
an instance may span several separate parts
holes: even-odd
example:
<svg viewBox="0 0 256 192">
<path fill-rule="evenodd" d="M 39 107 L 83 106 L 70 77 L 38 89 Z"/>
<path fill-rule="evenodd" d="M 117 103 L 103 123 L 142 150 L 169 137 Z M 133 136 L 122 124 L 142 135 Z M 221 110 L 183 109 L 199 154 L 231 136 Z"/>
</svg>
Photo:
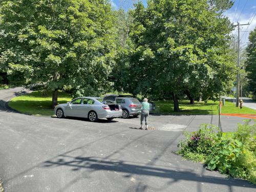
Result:
<svg viewBox="0 0 256 192">
<path fill-rule="evenodd" d="M 236 132 L 223 133 L 205 164 L 209 169 L 256 184 L 256 123 L 249 122 L 239 124 Z"/>
</svg>

